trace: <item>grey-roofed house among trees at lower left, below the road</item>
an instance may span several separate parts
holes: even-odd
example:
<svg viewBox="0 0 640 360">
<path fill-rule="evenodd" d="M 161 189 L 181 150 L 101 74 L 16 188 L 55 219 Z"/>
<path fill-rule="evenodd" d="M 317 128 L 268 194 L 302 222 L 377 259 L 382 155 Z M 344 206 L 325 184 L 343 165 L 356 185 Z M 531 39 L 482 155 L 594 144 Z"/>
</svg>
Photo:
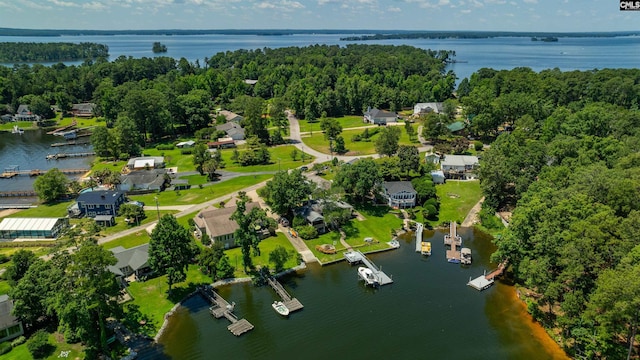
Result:
<svg viewBox="0 0 640 360">
<path fill-rule="evenodd" d="M 124 281 L 140 280 L 149 275 L 149 244 L 142 244 L 129 249 L 122 246 L 111 249 L 116 258 L 116 264 L 108 267 L 109 271 L 124 284 Z M 132 277 L 133 276 L 133 277 Z"/>
</svg>

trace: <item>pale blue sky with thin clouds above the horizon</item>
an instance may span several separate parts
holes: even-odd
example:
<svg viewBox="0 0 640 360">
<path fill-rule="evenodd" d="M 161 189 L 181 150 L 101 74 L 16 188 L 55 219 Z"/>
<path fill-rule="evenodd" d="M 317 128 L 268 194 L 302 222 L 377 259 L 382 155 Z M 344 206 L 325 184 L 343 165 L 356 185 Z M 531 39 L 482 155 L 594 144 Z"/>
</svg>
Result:
<svg viewBox="0 0 640 360">
<path fill-rule="evenodd" d="M 31 29 L 640 30 L 616 0 L 0 0 Z"/>
</svg>

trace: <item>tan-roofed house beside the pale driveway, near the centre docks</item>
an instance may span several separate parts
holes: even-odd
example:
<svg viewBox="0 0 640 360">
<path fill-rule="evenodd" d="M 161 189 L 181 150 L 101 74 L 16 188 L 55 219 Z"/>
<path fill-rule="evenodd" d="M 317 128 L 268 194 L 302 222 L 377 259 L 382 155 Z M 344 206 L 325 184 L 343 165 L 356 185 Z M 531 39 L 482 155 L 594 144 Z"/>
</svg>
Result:
<svg viewBox="0 0 640 360">
<path fill-rule="evenodd" d="M 257 202 L 246 204 L 247 212 L 253 208 L 260 208 L 260 204 Z M 212 242 L 222 243 L 225 249 L 236 247 L 234 233 L 238 229 L 238 223 L 229 219 L 234 211 L 236 211 L 235 206 L 222 209 L 208 208 L 200 211 L 193 218 L 196 225 L 196 236 L 201 237 L 203 234 L 207 234 Z"/>
</svg>

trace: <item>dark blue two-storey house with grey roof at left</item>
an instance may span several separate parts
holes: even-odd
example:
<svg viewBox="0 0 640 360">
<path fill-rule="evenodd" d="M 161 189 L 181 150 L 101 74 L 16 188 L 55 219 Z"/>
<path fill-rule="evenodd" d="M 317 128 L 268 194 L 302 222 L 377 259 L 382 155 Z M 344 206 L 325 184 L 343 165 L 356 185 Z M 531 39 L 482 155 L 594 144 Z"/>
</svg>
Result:
<svg viewBox="0 0 640 360">
<path fill-rule="evenodd" d="M 97 190 L 82 193 L 76 204 L 69 207 L 69 216 L 87 216 L 95 218 L 98 215 L 118 215 L 120 205 L 125 202 L 124 192 L 112 190 Z M 103 218 L 101 218 L 103 219 Z"/>
</svg>

